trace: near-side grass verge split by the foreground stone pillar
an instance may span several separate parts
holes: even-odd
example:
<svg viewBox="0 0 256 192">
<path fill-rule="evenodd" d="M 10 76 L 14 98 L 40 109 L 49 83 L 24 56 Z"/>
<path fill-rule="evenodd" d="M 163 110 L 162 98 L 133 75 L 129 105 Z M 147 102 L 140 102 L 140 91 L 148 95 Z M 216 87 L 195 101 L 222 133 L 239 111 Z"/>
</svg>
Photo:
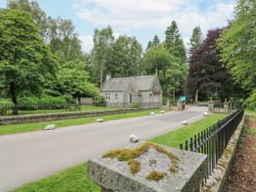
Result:
<svg viewBox="0 0 256 192">
<path fill-rule="evenodd" d="M 226 115 L 215 114 L 204 118 L 181 129 L 170 132 L 164 136 L 157 136 L 151 141 L 164 144 L 170 147 L 179 147 L 189 136 L 194 136 L 207 126 L 223 119 Z M 96 184 L 88 180 L 87 164 L 68 168 L 56 175 L 47 177 L 38 182 L 24 184 L 14 190 L 15 192 L 100 192 Z"/>
</svg>

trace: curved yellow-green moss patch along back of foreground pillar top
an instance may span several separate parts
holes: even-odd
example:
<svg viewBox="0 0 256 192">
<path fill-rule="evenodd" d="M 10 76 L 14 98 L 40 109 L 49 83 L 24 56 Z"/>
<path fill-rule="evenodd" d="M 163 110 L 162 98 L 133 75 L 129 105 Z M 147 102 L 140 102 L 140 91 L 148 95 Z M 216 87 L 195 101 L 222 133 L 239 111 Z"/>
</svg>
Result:
<svg viewBox="0 0 256 192">
<path fill-rule="evenodd" d="M 178 164 L 178 157 L 174 155 L 172 152 L 168 152 L 165 148 L 154 144 L 152 142 L 145 142 L 141 146 L 136 149 L 123 149 L 123 150 L 115 150 L 104 153 L 102 156 L 103 158 L 117 158 L 119 161 L 126 161 L 129 165 L 130 171 L 132 174 L 136 174 L 140 170 L 140 163 L 136 160 L 140 155 L 149 152 L 149 150 L 153 148 L 157 152 L 164 153 L 168 156 L 169 160 L 171 161 L 172 165 L 169 167 L 169 171 L 172 173 L 178 172 L 177 164 Z M 157 162 L 150 162 L 150 165 L 156 164 Z M 153 173 L 155 173 L 154 171 Z M 153 174 L 152 173 L 152 174 Z M 165 174 L 166 175 L 166 174 Z M 165 177 L 165 175 L 163 177 Z"/>
</svg>

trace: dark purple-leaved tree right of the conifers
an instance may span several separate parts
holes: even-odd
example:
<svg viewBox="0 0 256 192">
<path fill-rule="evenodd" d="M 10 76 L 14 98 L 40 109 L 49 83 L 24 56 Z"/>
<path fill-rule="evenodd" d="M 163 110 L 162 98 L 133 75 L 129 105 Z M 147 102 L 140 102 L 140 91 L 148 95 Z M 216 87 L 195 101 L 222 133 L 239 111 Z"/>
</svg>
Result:
<svg viewBox="0 0 256 192">
<path fill-rule="evenodd" d="M 232 94 L 233 82 L 223 67 L 216 48 L 221 29 L 208 31 L 207 37 L 189 58 L 187 87 L 191 93 L 199 90 L 202 100 L 215 97 L 222 101 Z"/>
</svg>

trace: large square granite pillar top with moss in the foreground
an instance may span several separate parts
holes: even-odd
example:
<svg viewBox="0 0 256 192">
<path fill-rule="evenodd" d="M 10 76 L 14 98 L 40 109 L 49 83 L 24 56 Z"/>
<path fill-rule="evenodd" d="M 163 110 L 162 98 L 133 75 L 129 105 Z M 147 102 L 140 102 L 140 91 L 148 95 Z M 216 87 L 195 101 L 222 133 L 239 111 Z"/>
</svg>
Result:
<svg viewBox="0 0 256 192">
<path fill-rule="evenodd" d="M 199 192 L 208 169 L 206 154 L 147 142 L 124 149 L 141 152 L 141 147 L 148 150 L 132 159 L 131 165 L 115 158 L 115 152 L 121 150 L 88 160 L 89 178 L 102 187 L 102 192 Z"/>
</svg>

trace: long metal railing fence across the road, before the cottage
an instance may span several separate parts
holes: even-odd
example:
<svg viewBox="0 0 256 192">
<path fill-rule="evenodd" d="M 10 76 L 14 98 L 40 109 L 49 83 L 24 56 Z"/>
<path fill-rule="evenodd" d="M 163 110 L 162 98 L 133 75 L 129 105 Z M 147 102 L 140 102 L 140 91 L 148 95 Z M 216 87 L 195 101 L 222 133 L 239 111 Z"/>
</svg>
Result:
<svg viewBox="0 0 256 192">
<path fill-rule="evenodd" d="M 104 112 L 127 108 L 155 108 L 159 103 L 141 104 L 33 104 L 33 105 L 0 105 L 0 116 L 33 115 L 72 112 Z"/>
</svg>

